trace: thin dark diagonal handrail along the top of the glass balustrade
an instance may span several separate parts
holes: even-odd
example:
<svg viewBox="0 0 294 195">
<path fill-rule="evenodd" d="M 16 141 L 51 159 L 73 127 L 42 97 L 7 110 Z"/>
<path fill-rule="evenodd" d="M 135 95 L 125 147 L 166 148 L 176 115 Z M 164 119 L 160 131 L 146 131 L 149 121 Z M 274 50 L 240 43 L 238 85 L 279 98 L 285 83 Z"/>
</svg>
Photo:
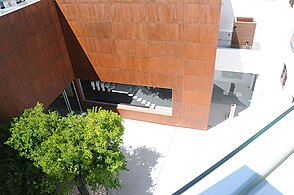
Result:
<svg viewBox="0 0 294 195">
<path fill-rule="evenodd" d="M 218 167 L 220 167 L 222 164 L 224 164 L 226 161 L 231 159 L 233 156 L 235 156 L 238 152 L 243 150 L 246 146 L 248 146 L 250 143 L 252 143 L 255 139 L 257 139 L 259 136 L 261 136 L 263 133 L 265 133 L 269 128 L 274 126 L 278 121 L 280 121 L 282 118 L 284 118 L 287 114 L 289 114 L 294 109 L 294 105 L 292 105 L 288 110 L 286 110 L 284 113 L 282 113 L 280 116 L 275 118 L 272 122 L 270 122 L 267 126 L 262 128 L 260 131 L 258 131 L 255 135 L 250 137 L 248 140 L 246 140 L 243 144 L 238 146 L 236 149 L 234 149 L 232 152 L 230 152 L 228 155 L 226 155 L 224 158 L 222 158 L 220 161 L 212 165 L 210 168 L 208 168 L 206 171 L 201 173 L 198 177 L 194 178 L 192 181 L 187 183 L 185 186 L 180 188 L 178 191 L 173 193 L 173 195 L 180 195 L 187 191 L 189 188 L 194 186 L 196 183 L 201 181 L 203 178 L 205 178 L 207 175 L 212 173 L 214 170 L 216 170 Z"/>
</svg>

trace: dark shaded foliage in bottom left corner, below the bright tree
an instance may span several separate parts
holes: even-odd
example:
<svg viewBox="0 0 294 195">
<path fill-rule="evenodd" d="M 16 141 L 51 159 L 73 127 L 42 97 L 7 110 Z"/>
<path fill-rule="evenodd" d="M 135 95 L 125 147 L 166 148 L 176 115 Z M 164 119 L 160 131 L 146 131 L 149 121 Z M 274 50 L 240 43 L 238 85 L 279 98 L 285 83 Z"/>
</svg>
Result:
<svg viewBox="0 0 294 195">
<path fill-rule="evenodd" d="M 54 194 L 58 183 L 4 142 L 10 137 L 0 127 L 0 194 Z"/>
</svg>

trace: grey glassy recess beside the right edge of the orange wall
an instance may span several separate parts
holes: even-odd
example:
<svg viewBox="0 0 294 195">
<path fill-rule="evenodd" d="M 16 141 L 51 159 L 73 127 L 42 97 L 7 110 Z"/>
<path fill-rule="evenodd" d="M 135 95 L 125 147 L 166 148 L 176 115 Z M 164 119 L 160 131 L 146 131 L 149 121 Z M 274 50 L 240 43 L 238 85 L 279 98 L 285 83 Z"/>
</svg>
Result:
<svg viewBox="0 0 294 195">
<path fill-rule="evenodd" d="M 215 71 L 209 128 L 237 117 L 250 106 L 257 77 L 257 74 Z"/>
</svg>

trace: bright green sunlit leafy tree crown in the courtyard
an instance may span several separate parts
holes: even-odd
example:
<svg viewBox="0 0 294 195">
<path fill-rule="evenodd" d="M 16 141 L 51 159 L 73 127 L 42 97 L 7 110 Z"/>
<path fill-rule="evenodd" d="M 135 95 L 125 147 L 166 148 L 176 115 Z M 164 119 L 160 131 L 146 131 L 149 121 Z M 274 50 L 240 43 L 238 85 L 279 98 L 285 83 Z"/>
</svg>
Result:
<svg viewBox="0 0 294 195">
<path fill-rule="evenodd" d="M 62 117 L 44 113 L 38 103 L 13 120 L 10 132 L 6 144 L 50 177 L 53 187 L 58 182 L 58 192 L 83 184 L 120 187 L 119 172 L 126 170 L 126 162 L 119 150 L 124 127 L 118 114 L 93 108 L 85 117 Z"/>
</svg>

